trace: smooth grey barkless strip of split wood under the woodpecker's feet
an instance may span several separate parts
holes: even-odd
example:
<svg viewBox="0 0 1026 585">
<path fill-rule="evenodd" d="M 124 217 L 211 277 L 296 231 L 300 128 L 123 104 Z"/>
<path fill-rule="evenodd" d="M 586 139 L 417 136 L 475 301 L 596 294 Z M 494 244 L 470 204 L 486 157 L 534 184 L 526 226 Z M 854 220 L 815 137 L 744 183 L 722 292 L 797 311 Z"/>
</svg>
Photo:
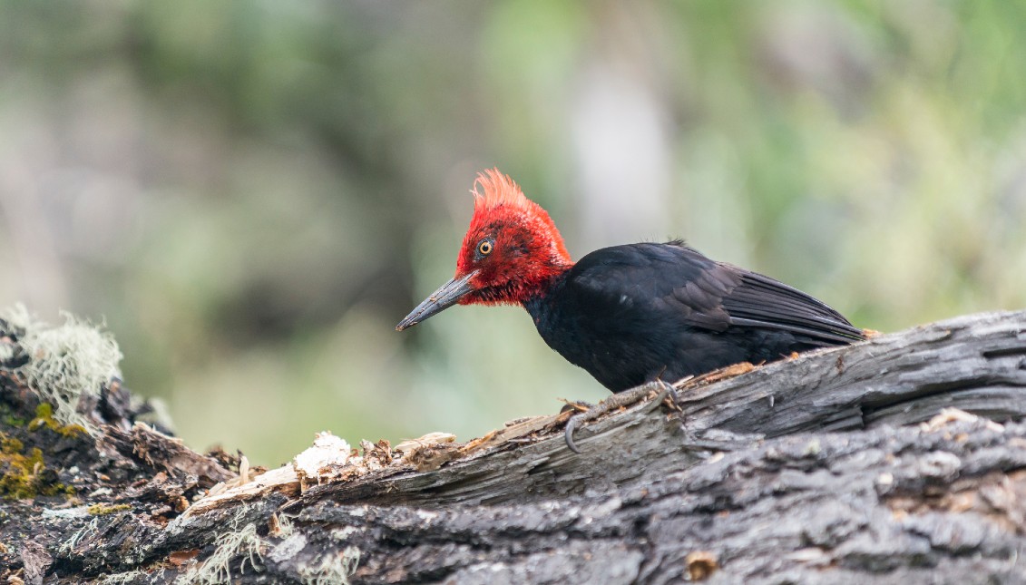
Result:
<svg viewBox="0 0 1026 585">
<path fill-rule="evenodd" d="M 330 485 L 310 497 L 324 492 L 341 502 L 426 506 L 523 502 L 647 481 L 686 469 L 711 451 L 744 447 L 762 437 L 907 425 L 942 407 L 997 421 L 1023 418 L 1026 312 L 960 317 L 802 354 L 685 387 L 678 404 L 678 417 L 653 415 L 640 404 L 583 427 L 577 434 L 580 456 L 559 433 L 550 433 L 435 472 Z"/>
</svg>

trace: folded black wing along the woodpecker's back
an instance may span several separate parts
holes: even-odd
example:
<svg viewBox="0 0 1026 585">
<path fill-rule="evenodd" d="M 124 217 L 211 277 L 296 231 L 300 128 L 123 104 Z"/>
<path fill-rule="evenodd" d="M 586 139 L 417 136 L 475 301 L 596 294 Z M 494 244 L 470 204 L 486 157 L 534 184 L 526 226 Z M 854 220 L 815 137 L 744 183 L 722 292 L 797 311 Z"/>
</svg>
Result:
<svg viewBox="0 0 1026 585">
<path fill-rule="evenodd" d="M 808 295 L 681 242 L 596 250 L 573 269 L 567 286 L 595 311 L 681 322 L 709 332 L 729 326 L 789 332 L 823 345 L 864 339 L 838 312 Z M 664 323 L 665 326 L 665 323 Z"/>
</svg>

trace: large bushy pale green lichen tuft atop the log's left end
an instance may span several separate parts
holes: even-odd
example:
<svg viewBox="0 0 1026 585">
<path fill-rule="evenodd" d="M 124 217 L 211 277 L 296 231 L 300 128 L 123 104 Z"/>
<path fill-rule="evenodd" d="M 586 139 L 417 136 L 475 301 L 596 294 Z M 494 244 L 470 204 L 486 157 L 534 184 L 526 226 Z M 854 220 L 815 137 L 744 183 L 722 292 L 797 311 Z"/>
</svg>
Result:
<svg viewBox="0 0 1026 585">
<path fill-rule="evenodd" d="M 63 425 L 93 427 L 78 412 L 85 394 L 97 394 L 112 378 L 120 378 L 121 350 L 109 332 L 69 313 L 65 323 L 51 326 L 32 315 L 24 305 L 0 311 L 0 318 L 25 332 L 17 342 L 29 361 L 15 372 L 39 392 L 42 401 L 53 404 L 53 418 Z"/>
</svg>

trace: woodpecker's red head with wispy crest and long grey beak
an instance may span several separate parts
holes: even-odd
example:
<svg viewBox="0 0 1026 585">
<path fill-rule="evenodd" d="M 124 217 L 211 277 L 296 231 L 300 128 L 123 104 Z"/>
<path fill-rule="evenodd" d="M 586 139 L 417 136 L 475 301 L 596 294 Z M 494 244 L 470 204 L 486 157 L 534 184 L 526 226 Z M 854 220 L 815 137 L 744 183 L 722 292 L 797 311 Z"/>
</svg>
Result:
<svg viewBox="0 0 1026 585">
<path fill-rule="evenodd" d="M 481 191 L 478 191 L 480 187 Z M 474 183 L 474 217 L 463 238 L 456 276 L 403 319 L 404 329 L 456 303 L 522 304 L 574 263 L 552 219 L 499 169 Z"/>
</svg>

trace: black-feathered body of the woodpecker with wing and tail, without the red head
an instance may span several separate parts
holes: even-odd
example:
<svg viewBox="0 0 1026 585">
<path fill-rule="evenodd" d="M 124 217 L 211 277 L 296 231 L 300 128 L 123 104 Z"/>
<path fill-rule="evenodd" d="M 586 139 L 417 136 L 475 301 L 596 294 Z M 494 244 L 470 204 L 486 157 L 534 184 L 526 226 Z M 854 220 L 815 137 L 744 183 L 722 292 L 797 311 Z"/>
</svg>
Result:
<svg viewBox="0 0 1026 585">
<path fill-rule="evenodd" d="M 680 241 L 595 250 L 523 305 L 552 349 L 614 392 L 864 339 L 808 295 Z"/>
</svg>

